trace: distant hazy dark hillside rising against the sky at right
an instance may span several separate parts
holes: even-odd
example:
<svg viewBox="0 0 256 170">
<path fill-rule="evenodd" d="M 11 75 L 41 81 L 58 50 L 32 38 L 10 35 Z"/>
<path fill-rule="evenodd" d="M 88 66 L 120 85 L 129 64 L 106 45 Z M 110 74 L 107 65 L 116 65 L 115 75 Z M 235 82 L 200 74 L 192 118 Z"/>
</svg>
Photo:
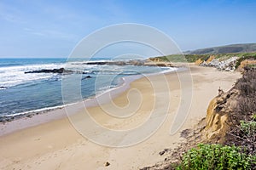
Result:
<svg viewBox="0 0 256 170">
<path fill-rule="evenodd" d="M 250 53 L 256 51 L 256 43 L 232 44 L 214 48 L 202 48 L 194 51 L 187 51 L 184 54 L 229 54 L 229 53 Z"/>
</svg>

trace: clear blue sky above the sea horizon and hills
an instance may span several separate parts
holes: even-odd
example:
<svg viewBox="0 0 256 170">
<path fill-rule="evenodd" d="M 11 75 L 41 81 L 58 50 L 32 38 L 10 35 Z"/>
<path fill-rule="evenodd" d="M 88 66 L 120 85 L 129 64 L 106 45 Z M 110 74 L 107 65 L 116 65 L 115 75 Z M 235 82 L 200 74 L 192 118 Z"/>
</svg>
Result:
<svg viewBox="0 0 256 170">
<path fill-rule="evenodd" d="M 91 32 L 137 23 L 182 50 L 256 42 L 255 0 L 1 0 L 0 57 L 67 57 Z"/>
</svg>

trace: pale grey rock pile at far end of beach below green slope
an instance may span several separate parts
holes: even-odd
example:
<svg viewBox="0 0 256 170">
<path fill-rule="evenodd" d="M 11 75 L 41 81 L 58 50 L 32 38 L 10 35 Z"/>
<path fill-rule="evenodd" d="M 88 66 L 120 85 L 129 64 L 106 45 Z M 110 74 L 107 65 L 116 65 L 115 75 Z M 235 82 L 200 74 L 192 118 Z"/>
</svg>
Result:
<svg viewBox="0 0 256 170">
<path fill-rule="evenodd" d="M 218 71 L 235 71 L 236 59 L 237 57 L 231 57 L 230 59 L 224 59 L 222 61 L 219 61 L 219 59 L 211 59 L 211 61 L 203 61 L 200 65 L 215 67 Z"/>
</svg>

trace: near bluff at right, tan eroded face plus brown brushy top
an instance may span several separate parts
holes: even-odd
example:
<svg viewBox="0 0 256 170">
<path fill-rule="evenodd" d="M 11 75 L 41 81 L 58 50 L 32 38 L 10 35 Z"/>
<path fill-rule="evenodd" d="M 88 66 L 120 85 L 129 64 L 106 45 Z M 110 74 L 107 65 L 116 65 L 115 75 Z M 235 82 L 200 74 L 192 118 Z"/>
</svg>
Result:
<svg viewBox="0 0 256 170">
<path fill-rule="evenodd" d="M 238 136 L 241 121 L 249 120 L 256 111 L 255 96 L 256 69 L 247 68 L 230 91 L 224 93 L 219 89 L 218 96 L 208 105 L 206 127 L 202 133 L 205 139 L 224 142 L 227 134 L 232 136 L 236 132 Z"/>
</svg>

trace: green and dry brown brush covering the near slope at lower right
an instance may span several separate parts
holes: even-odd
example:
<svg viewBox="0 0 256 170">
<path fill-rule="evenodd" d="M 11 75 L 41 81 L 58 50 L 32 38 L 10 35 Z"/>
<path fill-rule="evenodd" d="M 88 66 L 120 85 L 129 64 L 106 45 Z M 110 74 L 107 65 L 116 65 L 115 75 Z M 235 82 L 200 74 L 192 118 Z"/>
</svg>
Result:
<svg viewBox="0 0 256 170">
<path fill-rule="evenodd" d="M 243 56 L 251 59 L 256 54 Z M 233 88 L 239 95 L 224 144 L 199 144 L 171 169 L 256 169 L 256 70 L 244 72 Z"/>
</svg>

